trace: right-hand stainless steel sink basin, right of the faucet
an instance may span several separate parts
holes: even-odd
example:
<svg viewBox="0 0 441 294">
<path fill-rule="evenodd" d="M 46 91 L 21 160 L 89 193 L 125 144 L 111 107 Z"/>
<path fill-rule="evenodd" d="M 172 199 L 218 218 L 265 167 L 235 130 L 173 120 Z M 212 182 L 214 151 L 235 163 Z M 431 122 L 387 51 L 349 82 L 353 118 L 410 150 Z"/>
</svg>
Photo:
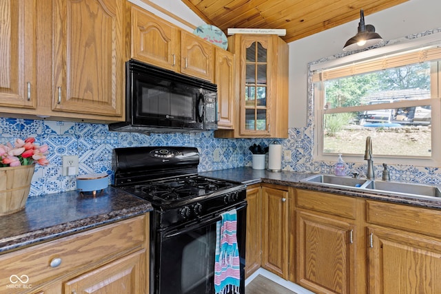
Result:
<svg viewBox="0 0 441 294">
<path fill-rule="evenodd" d="M 382 182 L 382 181 L 370 181 L 365 185 L 366 189 L 372 189 L 375 191 L 386 191 L 389 193 L 395 193 L 402 196 L 413 197 L 441 197 L 441 191 L 438 187 L 420 184 L 408 184 L 404 182 Z"/>
</svg>

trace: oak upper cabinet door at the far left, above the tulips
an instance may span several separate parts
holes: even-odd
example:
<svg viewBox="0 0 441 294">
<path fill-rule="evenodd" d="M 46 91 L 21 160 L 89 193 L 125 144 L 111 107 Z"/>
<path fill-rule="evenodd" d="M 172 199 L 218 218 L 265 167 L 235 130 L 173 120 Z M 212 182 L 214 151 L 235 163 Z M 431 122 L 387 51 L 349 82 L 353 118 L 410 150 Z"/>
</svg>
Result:
<svg viewBox="0 0 441 294">
<path fill-rule="evenodd" d="M 0 3 L 0 106 L 35 108 L 36 0 Z"/>
</svg>

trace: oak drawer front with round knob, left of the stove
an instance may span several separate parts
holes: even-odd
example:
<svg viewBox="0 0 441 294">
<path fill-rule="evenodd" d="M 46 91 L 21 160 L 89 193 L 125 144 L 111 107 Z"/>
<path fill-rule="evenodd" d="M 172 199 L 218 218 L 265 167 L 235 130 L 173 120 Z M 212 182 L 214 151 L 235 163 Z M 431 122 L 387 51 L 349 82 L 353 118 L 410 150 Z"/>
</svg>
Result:
<svg viewBox="0 0 441 294">
<path fill-rule="evenodd" d="M 0 255 L 0 293 L 17 291 L 17 287 L 37 288 L 54 277 L 119 258 L 144 244 L 145 216 L 138 216 Z M 61 263 L 51 267 L 57 258 Z"/>
</svg>

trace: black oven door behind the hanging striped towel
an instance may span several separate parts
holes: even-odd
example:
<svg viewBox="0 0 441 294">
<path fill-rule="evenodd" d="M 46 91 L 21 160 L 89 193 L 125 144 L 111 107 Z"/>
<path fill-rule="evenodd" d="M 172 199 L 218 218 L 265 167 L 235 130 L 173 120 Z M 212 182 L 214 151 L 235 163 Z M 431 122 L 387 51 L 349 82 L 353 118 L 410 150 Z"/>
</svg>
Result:
<svg viewBox="0 0 441 294">
<path fill-rule="evenodd" d="M 240 293 L 245 293 L 246 202 L 237 207 Z M 158 233 L 155 294 L 214 294 L 216 222 L 209 218 L 181 229 Z"/>
</svg>

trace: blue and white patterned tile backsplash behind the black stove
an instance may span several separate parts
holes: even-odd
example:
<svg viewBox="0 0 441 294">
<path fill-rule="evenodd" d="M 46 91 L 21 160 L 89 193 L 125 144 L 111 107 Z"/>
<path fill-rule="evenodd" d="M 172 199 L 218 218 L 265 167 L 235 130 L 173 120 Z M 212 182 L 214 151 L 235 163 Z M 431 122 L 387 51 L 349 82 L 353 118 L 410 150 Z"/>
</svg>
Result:
<svg viewBox="0 0 441 294">
<path fill-rule="evenodd" d="M 201 154 L 199 171 L 252 165 L 248 147 L 267 146 L 274 139 L 218 139 L 213 132 L 145 134 L 109 132 L 107 125 L 49 120 L 0 118 L 0 143 L 16 138 L 36 138 L 49 146 L 47 166 L 36 165 L 30 196 L 41 196 L 76 189 L 75 176 L 62 176 L 62 158 L 79 157 L 79 174 L 107 173 L 112 182 L 112 149 L 135 146 L 190 146 Z"/>
</svg>

